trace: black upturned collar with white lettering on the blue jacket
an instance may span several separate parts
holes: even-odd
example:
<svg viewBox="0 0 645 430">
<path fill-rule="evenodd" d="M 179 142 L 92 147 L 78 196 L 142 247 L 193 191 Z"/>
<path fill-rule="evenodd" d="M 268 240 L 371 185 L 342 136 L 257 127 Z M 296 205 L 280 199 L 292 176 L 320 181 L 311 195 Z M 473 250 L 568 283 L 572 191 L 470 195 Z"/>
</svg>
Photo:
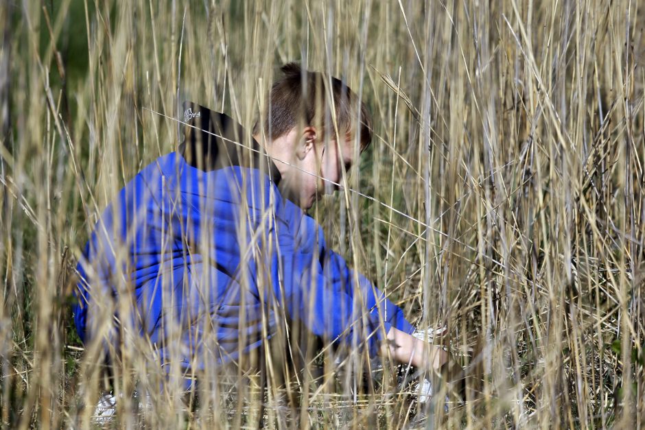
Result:
<svg viewBox="0 0 645 430">
<path fill-rule="evenodd" d="M 276 165 L 237 121 L 191 101 L 184 102 L 183 112 L 184 141 L 178 152 L 189 165 L 202 171 L 250 167 L 266 171 L 275 184 L 280 182 Z"/>
</svg>

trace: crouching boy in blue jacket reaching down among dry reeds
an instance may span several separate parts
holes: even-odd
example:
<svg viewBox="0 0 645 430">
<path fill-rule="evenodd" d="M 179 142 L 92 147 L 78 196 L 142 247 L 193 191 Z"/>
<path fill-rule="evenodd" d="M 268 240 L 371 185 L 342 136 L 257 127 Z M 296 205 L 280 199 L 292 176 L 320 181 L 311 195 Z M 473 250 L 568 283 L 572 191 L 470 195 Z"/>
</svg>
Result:
<svg viewBox="0 0 645 430">
<path fill-rule="evenodd" d="M 365 106 L 336 78 L 293 63 L 282 71 L 253 133 L 186 104 L 178 150 L 141 170 L 99 217 L 78 263 L 74 318 L 108 361 L 145 339 L 167 374 L 192 381 L 262 351 L 292 322 L 371 356 L 420 368 L 445 361 L 306 214 L 370 144 Z"/>
</svg>

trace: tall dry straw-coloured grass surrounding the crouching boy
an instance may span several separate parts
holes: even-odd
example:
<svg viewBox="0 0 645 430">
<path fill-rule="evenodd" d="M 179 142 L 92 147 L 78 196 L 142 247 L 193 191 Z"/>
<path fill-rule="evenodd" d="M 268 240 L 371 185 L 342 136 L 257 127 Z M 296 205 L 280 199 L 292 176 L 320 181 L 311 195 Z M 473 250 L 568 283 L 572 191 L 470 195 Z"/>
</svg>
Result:
<svg viewBox="0 0 645 430">
<path fill-rule="evenodd" d="M 69 302 L 98 215 L 176 148 L 164 115 L 183 99 L 251 126 L 290 60 L 345 77 L 375 119 L 349 177 L 371 198 L 312 214 L 410 320 L 447 324 L 463 369 L 465 387 L 438 383 L 417 424 L 643 427 L 642 13 L 626 0 L 3 1 L 3 427 L 91 426 L 106 385 Z M 323 353 L 319 385 L 269 379 L 266 399 L 252 385 L 226 405 L 213 389 L 193 407 L 151 388 L 163 375 L 145 345 L 126 349 L 115 425 L 255 425 L 263 403 L 269 427 L 414 425 L 395 370 L 365 383 L 358 353 L 342 375 Z"/>
</svg>

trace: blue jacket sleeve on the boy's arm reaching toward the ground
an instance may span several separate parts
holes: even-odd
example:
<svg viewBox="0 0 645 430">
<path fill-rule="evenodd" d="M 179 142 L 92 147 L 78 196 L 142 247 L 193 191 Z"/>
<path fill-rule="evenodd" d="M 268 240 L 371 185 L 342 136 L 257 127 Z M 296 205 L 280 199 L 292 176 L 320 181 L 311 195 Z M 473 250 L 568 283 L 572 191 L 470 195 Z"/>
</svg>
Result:
<svg viewBox="0 0 645 430">
<path fill-rule="evenodd" d="M 401 309 L 338 254 L 325 251 L 322 230 L 309 220 L 295 235 L 277 220 L 272 284 L 288 316 L 329 342 L 366 347 L 371 356 L 392 326 L 412 333 Z"/>
</svg>

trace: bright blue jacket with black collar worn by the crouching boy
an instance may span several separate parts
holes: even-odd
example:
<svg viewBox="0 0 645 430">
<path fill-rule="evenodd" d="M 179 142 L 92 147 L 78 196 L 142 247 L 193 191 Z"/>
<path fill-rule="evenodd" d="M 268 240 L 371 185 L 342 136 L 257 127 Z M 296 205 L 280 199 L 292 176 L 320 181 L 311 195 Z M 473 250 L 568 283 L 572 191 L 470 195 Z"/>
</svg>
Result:
<svg viewBox="0 0 645 430">
<path fill-rule="evenodd" d="M 279 171 L 241 126 L 196 105 L 185 119 L 180 150 L 121 189 L 87 243 L 74 307 L 84 342 L 114 315 L 101 331 L 108 343 L 127 326 L 150 337 L 162 361 L 179 342 L 184 366 L 202 368 L 257 348 L 284 322 L 371 355 L 391 326 L 414 331 L 283 198 Z M 124 296 L 128 305 L 117 306 Z"/>
</svg>

